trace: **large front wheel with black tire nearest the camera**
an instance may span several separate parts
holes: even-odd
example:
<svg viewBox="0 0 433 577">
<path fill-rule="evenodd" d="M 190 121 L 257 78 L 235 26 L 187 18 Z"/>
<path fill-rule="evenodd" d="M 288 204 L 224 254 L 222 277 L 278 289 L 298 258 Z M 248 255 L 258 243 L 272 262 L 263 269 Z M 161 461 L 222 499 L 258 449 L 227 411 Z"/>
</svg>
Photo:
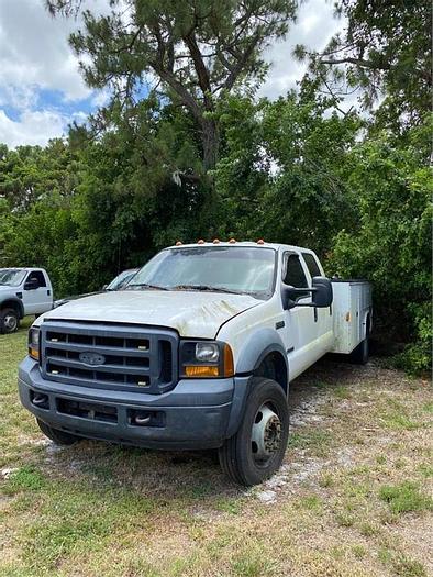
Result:
<svg viewBox="0 0 433 577">
<path fill-rule="evenodd" d="M 251 487 L 281 466 L 289 437 L 289 406 L 275 380 L 254 377 L 237 432 L 219 450 L 222 470 Z"/>
</svg>

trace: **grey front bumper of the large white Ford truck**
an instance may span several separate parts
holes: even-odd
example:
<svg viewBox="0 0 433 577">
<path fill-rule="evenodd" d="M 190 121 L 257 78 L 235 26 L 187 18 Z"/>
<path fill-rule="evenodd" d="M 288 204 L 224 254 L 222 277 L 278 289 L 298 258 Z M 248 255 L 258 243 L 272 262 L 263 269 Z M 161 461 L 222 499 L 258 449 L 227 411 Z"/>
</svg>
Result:
<svg viewBox="0 0 433 577">
<path fill-rule="evenodd" d="M 221 446 L 237 430 L 247 381 L 247 377 L 185 379 L 162 395 L 107 390 L 43 379 L 30 357 L 20 365 L 18 379 L 22 404 L 55 429 L 167 450 Z M 41 395 L 46 398 L 44 408 L 34 403 Z M 75 407 L 91 410 L 87 414 Z M 151 423 L 137 425 L 134 415 L 152 415 Z"/>
</svg>

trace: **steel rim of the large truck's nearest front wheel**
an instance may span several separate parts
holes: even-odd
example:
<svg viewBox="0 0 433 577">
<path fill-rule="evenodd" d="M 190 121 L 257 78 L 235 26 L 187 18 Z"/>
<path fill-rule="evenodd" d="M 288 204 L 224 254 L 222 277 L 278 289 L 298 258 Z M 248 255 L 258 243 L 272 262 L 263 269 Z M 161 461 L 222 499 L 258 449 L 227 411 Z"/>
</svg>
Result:
<svg viewBox="0 0 433 577">
<path fill-rule="evenodd" d="M 252 455 L 257 466 L 266 467 L 281 445 L 281 421 L 265 402 L 257 410 L 252 428 Z"/>
</svg>

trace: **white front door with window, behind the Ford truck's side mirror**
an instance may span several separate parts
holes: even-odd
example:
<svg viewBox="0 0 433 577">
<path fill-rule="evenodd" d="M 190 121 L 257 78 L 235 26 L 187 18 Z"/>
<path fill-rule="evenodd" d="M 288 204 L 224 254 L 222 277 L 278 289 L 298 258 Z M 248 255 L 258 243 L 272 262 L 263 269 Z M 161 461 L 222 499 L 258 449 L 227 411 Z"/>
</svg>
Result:
<svg viewBox="0 0 433 577">
<path fill-rule="evenodd" d="M 295 288 L 309 288 L 308 270 L 299 254 L 286 252 L 282 258 L 282 282 Z M 293 293 L 293 300 L 299 306 L 285 311 L 285 344 L 290 379 L 297 377 L 319 358 L 315 349 L 318 323 L 314 309 L 300 306 L 311 302 L 311 293 L 307 291 Z"/>
</svg>

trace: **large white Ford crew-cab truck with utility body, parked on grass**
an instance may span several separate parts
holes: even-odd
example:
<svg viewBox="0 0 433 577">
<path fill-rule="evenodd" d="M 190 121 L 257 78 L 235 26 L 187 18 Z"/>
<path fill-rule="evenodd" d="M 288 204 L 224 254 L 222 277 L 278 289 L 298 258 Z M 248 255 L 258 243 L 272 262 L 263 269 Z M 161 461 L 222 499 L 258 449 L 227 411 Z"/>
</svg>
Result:
<svg viewBox="0 0 433 577">
<path fill-rule="evenodd" d="M 255 485 L 281 465 L 289 382 L 329 352 L 368 357 L 371 292 L 312 251 L 214 241 L 162 251 L 121 291 L 38 318 L 21 401 L 53 441 L 218 448 Z"/>
</svg>

